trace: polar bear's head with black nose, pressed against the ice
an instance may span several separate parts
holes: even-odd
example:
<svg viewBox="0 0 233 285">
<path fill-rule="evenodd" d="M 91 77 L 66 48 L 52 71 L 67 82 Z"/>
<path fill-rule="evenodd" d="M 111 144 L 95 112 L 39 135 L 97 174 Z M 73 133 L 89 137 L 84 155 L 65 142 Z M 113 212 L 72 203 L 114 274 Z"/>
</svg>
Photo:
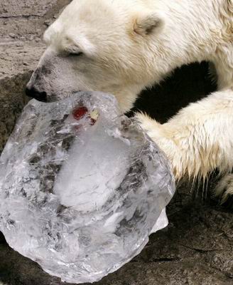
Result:
<svg viewBox="0 0 233 285">
<path fill-rule="evenodd" d="M 28 95 L 53 101 L 99 90 L 114 94 L 121 109 L 129 110 L 155 81 L 155 56 L 164 40 L 163 16 L 146 2 L 73 0 L 45 31 L 47 49 Z"/>
</svg>

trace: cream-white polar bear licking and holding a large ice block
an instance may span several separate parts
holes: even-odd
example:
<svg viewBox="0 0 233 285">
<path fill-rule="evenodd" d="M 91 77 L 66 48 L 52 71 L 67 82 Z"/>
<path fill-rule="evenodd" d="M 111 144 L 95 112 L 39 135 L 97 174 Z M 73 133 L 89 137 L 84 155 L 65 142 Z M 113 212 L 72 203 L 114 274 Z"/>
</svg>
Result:
<svg viewBox="0 0 233 285">
<path fill-rule="evenodd" d="M 233 0 L 73 0 L 44 35 L 48 48 L 26 92 L 59 100 L 112 93 L 123 112 L 175 68 L 214 63 L 218 91 L 161 125 L 136 120 L 166 152 L 177 180 L 219 169 L 217 195 L 233 197 Z"/>
</svg>

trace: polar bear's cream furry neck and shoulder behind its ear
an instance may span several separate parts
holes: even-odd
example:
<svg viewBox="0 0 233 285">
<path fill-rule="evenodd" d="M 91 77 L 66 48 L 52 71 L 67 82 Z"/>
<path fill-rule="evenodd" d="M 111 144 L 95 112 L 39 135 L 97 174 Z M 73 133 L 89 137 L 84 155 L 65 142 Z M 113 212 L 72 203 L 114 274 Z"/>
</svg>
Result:
<svg viewBox="0 0 233 285">
<path fill-rule="evenodd" d="M 233 6 L 229 1 L 134 1 L 159 12 L 166 19 L 164 31 L 151 36 L 148 46 L 143 46 L 144 50 L 148 50 L 143 54 L 148 54 L 147 69 L 151 72 L 151 83 L 161 81 L 170 71 L 183 64 L 195 61 L 212 61 L 217 64 L 220 61 L 216 50 L 224 53 L 223 46 L 226 46 L 226 42 L 232 44 L 233 38 L 233 13 L 229 11 Z M 229 66 L 231 64 L 233 59 Z M 146 76 L 149 77 L 149 74 Z"/>
</svg>

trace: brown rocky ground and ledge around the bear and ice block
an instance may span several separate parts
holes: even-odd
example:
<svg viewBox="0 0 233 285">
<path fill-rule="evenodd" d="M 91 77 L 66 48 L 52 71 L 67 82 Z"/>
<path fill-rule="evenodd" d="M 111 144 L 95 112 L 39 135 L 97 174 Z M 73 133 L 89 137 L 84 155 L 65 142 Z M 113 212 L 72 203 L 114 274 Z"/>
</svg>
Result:
<svg viewBox="0 0 233 285">
<path fill-rule="evenodd" d="M 45 28 L 70 0 L 0 0 L 0 152 L 27 98 L 26 82 L 45 46 Z M 212 90 L 207 63 L 184 66 L 136 103 L 164 122 Z M 149 108 L 148 108 L 149 106 Z M 152 234 L 143 252 L 97 285 L 233 284 L 233 213 L 210 199 L 210 188 L 179 187 L 168 207 L 170 224 Z M 196 187 L 193 187 L 196 188 Z M 61 285 L 38 264 L 14 252 L 0 235 L 0 284 Z"/>
</svg>

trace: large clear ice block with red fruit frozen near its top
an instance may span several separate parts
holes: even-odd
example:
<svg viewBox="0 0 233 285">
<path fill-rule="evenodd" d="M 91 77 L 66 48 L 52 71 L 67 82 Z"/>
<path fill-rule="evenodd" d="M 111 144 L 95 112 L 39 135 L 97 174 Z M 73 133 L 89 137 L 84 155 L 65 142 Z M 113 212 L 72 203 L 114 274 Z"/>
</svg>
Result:
<svg viewBox="0 0 233 285">
<path fill-rule="evenodd" d="M 112 95 L 31 100 L 0 158 L 0 230 L 49 274 L 94 282 L 166 227 L 174 190 L 166 157 Z"/>
</svg>

